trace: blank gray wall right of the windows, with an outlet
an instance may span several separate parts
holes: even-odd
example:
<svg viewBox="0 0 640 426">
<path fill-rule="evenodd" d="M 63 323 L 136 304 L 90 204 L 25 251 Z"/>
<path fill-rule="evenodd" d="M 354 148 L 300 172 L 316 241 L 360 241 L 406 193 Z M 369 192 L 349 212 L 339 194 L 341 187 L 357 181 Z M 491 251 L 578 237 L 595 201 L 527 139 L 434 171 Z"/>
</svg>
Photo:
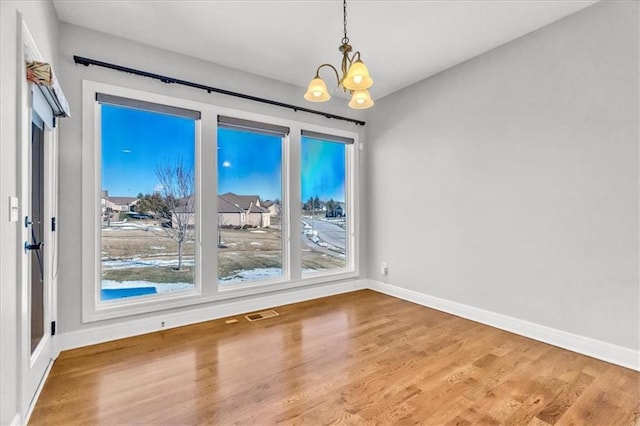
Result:
<svg viewBox="0 0 640 426">
<path fill-rule="evenodd" d="M 637 350 L 638 3 L 380 100 L 368 277 Z M 421 52 L 427 55 L 428 52 Z"/>
</svg>

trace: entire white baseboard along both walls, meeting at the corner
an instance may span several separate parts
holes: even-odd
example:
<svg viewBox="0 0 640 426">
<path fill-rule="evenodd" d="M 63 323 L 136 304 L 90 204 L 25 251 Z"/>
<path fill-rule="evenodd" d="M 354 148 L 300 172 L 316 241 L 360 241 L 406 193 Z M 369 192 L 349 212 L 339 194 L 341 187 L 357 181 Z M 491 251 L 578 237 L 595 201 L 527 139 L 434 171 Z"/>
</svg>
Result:
<svg viewBox="0 0 640 426">
<path fill-rule="evenodd" d="M 363 288 L 640 371 L 639 351 L 370 279 L 302 287 L 276 294 L 258 295 L 240 301 L 222 301 L 181 312 L 158 313 L 151 317 L 129 321 L 126 326 L 118 323 L 61 333 L 54 338 L 55 353 L 57 355 L 63 350 L 210 321 L 274 306 L 348 293 Z M 164 327 L 162 326 L 163 322 Z"/>
</svg>

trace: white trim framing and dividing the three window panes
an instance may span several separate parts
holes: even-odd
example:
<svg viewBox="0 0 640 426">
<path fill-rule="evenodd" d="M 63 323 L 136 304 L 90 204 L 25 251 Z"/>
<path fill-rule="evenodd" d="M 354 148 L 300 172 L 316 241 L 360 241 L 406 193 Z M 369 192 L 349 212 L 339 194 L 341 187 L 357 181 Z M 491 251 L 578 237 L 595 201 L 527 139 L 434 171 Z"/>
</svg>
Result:
<svg viewBox="0 0 640 426">
<path fill-rule="evenodd" d="M 126 298 L 108 303 L 99 300 L 100 282 L 100 149 L 97 141 L 100 135 L 99 107 L 96 93 L 107 93 L 125 98 L 140 99 L 197 110 L 202 118 L 197 124 L 196 135 L 196 271 L 195 289 L 170 295 L 154 295 L 151 297 Z M 274 291 L 298 288 L 307 285 L 349 280 L 358 277 L 358 235 L 356 224 L 359 223 L 357 207 L 359 171 L 358 133 L 331 127 L 308 124 L 305 122 L 282 119 L 243 110 L 219 107 L 212 104 L 195 102 L 148 93 L 136 89 L 113 86 L 105 83 L 83 80 L 82 82 L 82 322 L 94 322 L 111 318 L 157 312 L 179 307 L 229 300 L 244 296 L 264 294 Z M 204 221 L 203 211 L 217 211 L 217 117 L 218 115 L 238 117 L 246 120 L 272 123 L 288 126 L 291 129 L 289 137 L 283 141 L 283 195 L 282 195 L 282 239 L 283 244 L 283 277 L 277 281 L 259 281 L 238 283 L 233 286 L 220 286 L 217 280 L 217 256 L 215 238 L 203 239 L 206 235 L 216 235 L 216 220 Z M 197 122 L 198 123 L 198 122 Z M 318 133 L 331 134 L 352 138 L 354 144 L 347 150 L 349 167 L 347 167 L 347 182 L 345 202 L 348 211 L 352 212 L 348 219 L 347 259 L 345 269 L 339 271 L 318 271 L 305 273 L 302 277 L 300 265 L 301 241 L 298 237 L 302 232 L 301 213 L 299 209 L 290 206 L 300 204 L 300 138 L 301 131 L 309 130 Z M 202 142 L 202 141 L 206 141 Z M 210 159 L 213 166 L 203 167 L 203 159 Z M 295 178 L 293 178 L 295 176 Z M 207 185 L 202 185 L 207 182 Z M 214 216 L 217 219 L 217 216 Z M 212 229 L 213 227 L 213 229 Z M 295 238 L 292 238 L 295 236 Z M 203 262 L 206 253 L 210 258 Z M 295 266 L 294 266 L 295 265 Z M 216 277 L 211 281 L 203 277 Z"/>
</svg>

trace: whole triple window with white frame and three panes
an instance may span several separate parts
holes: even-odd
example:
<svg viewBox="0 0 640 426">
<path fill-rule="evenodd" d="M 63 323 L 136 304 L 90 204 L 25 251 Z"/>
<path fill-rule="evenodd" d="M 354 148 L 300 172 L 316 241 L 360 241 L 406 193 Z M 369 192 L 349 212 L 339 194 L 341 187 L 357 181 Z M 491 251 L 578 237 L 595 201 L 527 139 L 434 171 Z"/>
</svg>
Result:
<svg viewBox="0 0 640 426">
<path fill-rule="evenodd" d="M 357 277 L 356 132 L 89 81 L 83 108 L 84 322 Z"/>
</svg>

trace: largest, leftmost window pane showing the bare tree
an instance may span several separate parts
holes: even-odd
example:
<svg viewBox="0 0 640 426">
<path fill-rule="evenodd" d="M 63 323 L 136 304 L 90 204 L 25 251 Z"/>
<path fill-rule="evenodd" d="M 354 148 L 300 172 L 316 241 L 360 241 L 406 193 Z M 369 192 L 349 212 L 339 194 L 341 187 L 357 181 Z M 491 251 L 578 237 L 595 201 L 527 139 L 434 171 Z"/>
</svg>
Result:
<svg viewBox="0 0 640 426">
<path fill-rule="evenodd" d="M 195 120 L 100 108 L 101 300 L 193 289 Z"/>
</svg>

